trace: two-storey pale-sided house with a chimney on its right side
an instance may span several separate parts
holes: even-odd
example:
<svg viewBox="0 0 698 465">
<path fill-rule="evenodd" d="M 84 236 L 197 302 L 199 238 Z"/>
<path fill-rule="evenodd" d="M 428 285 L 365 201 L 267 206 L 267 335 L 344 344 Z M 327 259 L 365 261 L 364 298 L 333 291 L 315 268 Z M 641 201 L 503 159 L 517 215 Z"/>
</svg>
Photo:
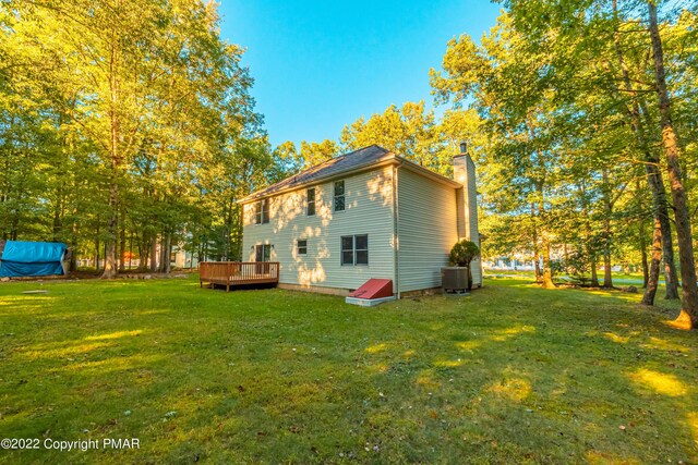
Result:
<svg viewBox="0 0 698 465">
<path fill-rule="evenodd" d="M 242 259 L 278 261 L 286 289 L 346 294 L 370 278 L 393 280 L 398 297 L 440 287 L 453 245 L 479 244 L 476 195 L 465 152 L 452 180 L 373 145 L 241 199 Z M 479 260 L 472 276 L 481 285 Z"/>
</svg>

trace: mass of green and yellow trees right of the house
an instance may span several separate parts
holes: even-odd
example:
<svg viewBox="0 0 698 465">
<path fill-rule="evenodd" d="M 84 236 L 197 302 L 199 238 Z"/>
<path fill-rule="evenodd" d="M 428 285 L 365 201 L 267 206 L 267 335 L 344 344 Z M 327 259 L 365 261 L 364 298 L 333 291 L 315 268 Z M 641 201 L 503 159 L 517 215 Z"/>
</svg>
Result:
<svg viewBox="0 0 698 465">
<path fill-rule="evenodd" d="M 455 110 L 477 109 L 491 140 L 481 164 L 483 178 L 493 181 L 480 184 L 493 217 L 484 222 L 485 234 L 501 241 L 500 249 L 532 250 L 537 264 L 542 255 L 541 278 L 547 285 L 551 250 L 570 267 L 590 270 L 592 283 L 599 282 L 602 262 L 606 286 L 612 286 L 612 266 L 639 250 L 646 276 L 654 277 L 648 290 L 652 282 L 657 289 L 662 257 L 666 281 L 675 283 L 673 218 L 664 191 L 671 163 L 660 158 L 666 150 L 666 124 L 653 96 L 658 77 L 651 57 L 658 47 L 648 15 L 653 4 L 513 0 L 505 5 L 479 44 L 468 36 L 452 40 L 442 71 L 432 71 L 437 101 Z M 696 12 L 670 3 L 659 11 L 672 76 L 667 95 L 673 108 L 686 108 L 696 98 L 695 69 L 687 65 L 691 58 L 685 51 L 696 46 L 688 25 L 695 24 Z M 677 132 L 693 126 L 687 118 L 673 123 Z M 677 144 L 678 151 L 682 144 L 691 146 L 691 138 Z M 686 150 L 685 186 L 694 183 L 691 160 L 695 154 Z M 498 234 L 513 223 L 519 225 L 514 235 Z M 652 223 L 655 233 L 648 237 Z M 579 266 L 580 260 L 587 265 Z M 682 271 L 693 273 L 686 264 Z M 676 296 L 672 287 L 667 297 Z"/>
</svg>

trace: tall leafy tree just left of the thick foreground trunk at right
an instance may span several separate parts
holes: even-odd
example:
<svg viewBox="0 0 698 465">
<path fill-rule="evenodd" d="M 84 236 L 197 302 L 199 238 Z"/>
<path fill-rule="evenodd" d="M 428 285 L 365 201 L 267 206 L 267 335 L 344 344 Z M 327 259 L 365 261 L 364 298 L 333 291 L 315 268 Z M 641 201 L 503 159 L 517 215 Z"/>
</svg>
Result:
<svg viewBox="0 0 698 465">
<path fill-rule="evenodd" d="M 660 169 L 659 158 L 653 150 L 655 135 L 661 134 L 660 139 L 665 139 L 665 130 L 658 131 L 659 124 L 655 123 L 657 120 L 661 121 L 661 105 L 652 106 L 647 100 L 649 93 L 662 87 L 658 85 L 657 72 L 658 45 L 661 46 L 662 41 L 658 28 L 652 39 L 651 19 L 649 22 L 642 21 L 643 4 L 648 12 L 651 12 L 654 7 L 654 16 L 657 16 L 654 3 L 624 2 L 621 5 L 613 0 L 593 2 L 571 0 L 561 9 L 555 2 L 547 1 L 506 2 L 515 27 L 527 36 L 530 47 L 540 49 L 541 45 L 546 46 L 552 37 L 555 38 L 554 47 L 549 50 L 552 51 L 552 63 L 557 74 L 554 84 L 559 97 L 578 98 L 575 96 L 590 96 L 594 91 L 602 91 L 609 99 L 604 113 L 609 117 L 623 115 L 626 124 L 633 129 L 635 152 L 628 154 L 628 158 L 646 166 L 652 194 L 647 203 L 652 205 L 651 210 L 661 227 L 655 232 L 654 238 L 661 234 L 659 237 L 665 262 L 666 296 L 672 298 L 676 295 L 677 279 L 673 265 L 671 223 L 662 185 L 664 170 Z M 672 8 L 669 4 L 664 5 L 664 10 L 671 13 L 667 14 L 669 16 L 690 17 L 693 14 L 684 11 L 678 15 L 672 11 Z M 645 24 L 649 24 L 649 27 L 643 27 Z M 685 26 L 679 23 L 667 23 L 666 26 L 665 30 L 672 36 L 681 36 L 683 39 L 689 36 L 683 33 Z M 685 46 L 686 42 L 683 42 L 676 49 L 685 49 Z M 651 51 L 654 58 L 653 66 L 652 61 L 647 60 L 648 51 Z M 674 56 L 677 59 L 672 61 L 672 65 L 675 71 L 679 71 L 675 81 L 682 83 L 687 73 L 684 70 L 689 69 L 684 63 L 689 59 L 682 57 L 678 52 Z M 579 60 L 579 58 L 582 59 Z M 589 70 L 592 70 L 593 74 L 590 74 Z M 684 73 L 683 76 L 682 73 Z M 666 85 L 664 87 L 667 90 Z M 676 147 L 681 150 L 681 144 L 676 144 Z M 675 163 L 675 167 L 682 168 L 681 163 Z M 671 179 L 671 169 L 667 171 Z M 679 221 L 677 221 L 678 228 Z M 685 236 L 685 231 L 683 235 Z M 688 268 L 693 267 L 689 265 Z M 693 287 L 690 286 L 691 290 Z M 691 293 L 689 292 L 689 297 Z"/>
</svg>

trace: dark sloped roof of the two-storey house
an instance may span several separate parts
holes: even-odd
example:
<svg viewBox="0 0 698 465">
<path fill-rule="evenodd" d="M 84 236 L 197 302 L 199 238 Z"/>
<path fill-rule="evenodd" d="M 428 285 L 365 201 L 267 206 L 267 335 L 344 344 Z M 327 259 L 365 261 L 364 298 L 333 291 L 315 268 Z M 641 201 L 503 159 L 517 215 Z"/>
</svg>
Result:
<svg viewBox="0 0 698 465">
<path fill-rule="evenodd" d="M 300 173 L 279 181 L 276 184 L 272 184 L 268 187 L 254 192 L 246 197 L 241 198 L 240 200 L 238 200 L 238 203 L 248 204 L 253 200 L 268 197 L 281 192 L 293 191 L 305 185 L 315 184 L 329 178 L 336 178 L 359 170 L 361 168 L 370 167 L 372 164 L 381 163 L 388 160 L 396 160 L 398 162 L 407 163 L 411 166 L 412 169 L 419 170 L 423 174 L 436 176 L 442 182 L 446 181 L 449 184 L 456 184 L 453 180 L 434 173 L 433 171 L 430 171 L 425 168 L 422 168 L 419 164 L 413 163 L 402 157 L 398 157 L 381 146 L 371 145 L 369 147 L 360 148 L 359 150 L 340 155 L 339 157 L 335 157 L 323 163 L 309 168 L 308 170 L 301 171 Z"/>
</svg>

